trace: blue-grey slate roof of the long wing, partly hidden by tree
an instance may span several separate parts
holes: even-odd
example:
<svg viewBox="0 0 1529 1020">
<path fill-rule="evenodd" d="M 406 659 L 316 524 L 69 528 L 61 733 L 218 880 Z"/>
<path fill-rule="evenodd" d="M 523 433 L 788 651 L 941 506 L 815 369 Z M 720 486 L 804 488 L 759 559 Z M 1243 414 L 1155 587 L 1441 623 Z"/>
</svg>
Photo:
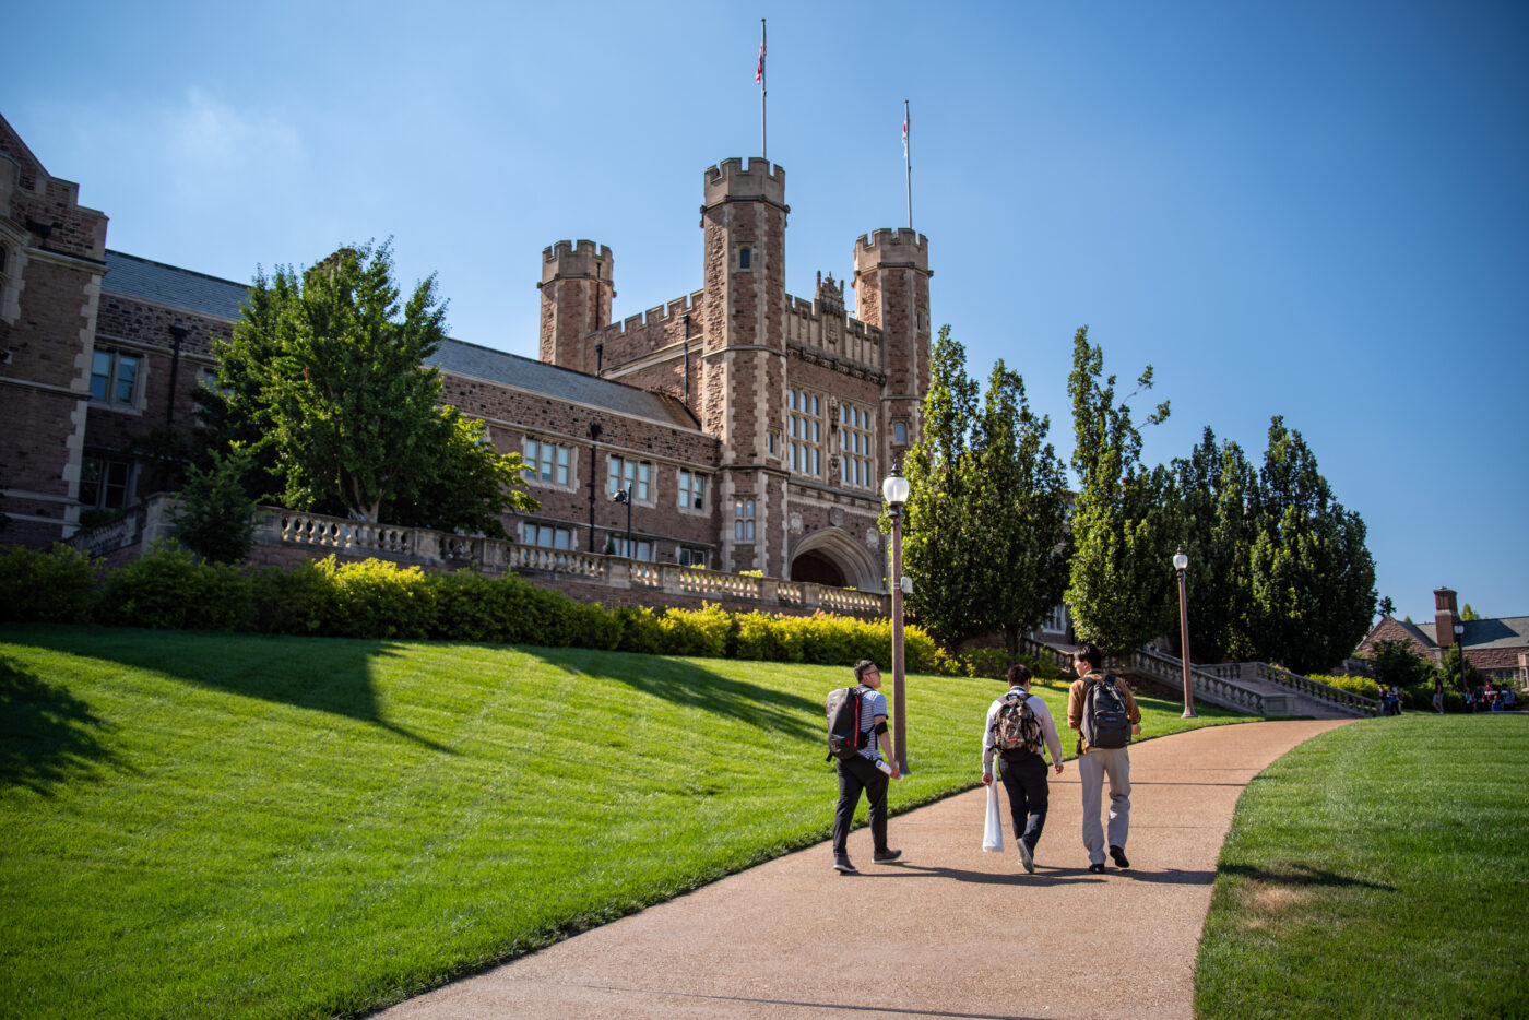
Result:
<svg viewBox="0 0 1529 1020">
<path fill-rule="evenodd" d="M 239 310 L 249 294 L 246 283 L 220 280 L 119 251 L 107 251 L 106 265 L 109 272 L 101 283 L 101 289 L 106 292 L 223 320 L 239 318 Z M 671 396 L 650 393 L 610 379 L 598 379 L 583 372 L 558 369 L 460 339 L 442 343 L 440 350 L 430 358 L 428 364 L 451 375 L 498 382 L 561 401 L 605 408 L 616 414 L 647 417 L 680 428 L 699 427 L 685 405 Z"/>
</svg>

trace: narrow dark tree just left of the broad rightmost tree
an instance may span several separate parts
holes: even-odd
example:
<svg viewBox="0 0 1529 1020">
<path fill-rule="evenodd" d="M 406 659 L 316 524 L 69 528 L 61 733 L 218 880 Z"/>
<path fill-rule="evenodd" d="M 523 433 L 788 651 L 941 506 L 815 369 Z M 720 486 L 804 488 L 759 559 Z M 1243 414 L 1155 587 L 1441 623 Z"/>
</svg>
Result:
<svg viewBox="0 0 1529 1020">
<path fill-rule="evenodd" d="M 1248 636 L 1248 560 L 1252 521 L 1248 503 L 1258 476 L 1242 447 L 1216 442 L 1209 427 L 1187 460 L 1173 468 L 1183 511 L 1190 653 L 1202 662 L 1255 655 Z"/>
</svg>

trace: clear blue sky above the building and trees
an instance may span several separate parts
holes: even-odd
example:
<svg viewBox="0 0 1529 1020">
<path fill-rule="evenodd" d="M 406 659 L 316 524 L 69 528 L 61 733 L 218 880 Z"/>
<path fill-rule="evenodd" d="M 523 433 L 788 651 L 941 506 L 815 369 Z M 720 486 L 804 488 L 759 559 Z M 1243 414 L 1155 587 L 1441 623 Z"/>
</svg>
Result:
<svg viewBox="0 0 1529 1020">
<path fill-rule="evenodd" d="M 702 174 L 786 168 L 786 286 L 930 239 L 933 318 L 1072 450 L 1072 336 L 1261 460 L 1272 414 L 1368 525 L 1381 595 L 1529 615 L 1529 5 L 9 5 L 0 113 L 109 246 L 232 280 L 393 237 L 451 333 L 537 356 L 541 249 L 616 317 L 700 286 Z"/>
</svg>

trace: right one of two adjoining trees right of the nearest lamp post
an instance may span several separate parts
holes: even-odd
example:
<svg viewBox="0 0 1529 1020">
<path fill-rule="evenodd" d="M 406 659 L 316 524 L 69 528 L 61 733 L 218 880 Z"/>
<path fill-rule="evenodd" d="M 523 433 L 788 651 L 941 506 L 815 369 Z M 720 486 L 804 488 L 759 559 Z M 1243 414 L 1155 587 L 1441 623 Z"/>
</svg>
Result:
<svg viewBox="0 0 1529 1020">
<path fill-rule="evenodd" d="M 977 619 L 1003 633 L 1011 662 L 1067 587 L 1067 477 L 1049 431 L 1050 419 L 1031 411 L 1024 379 L 1000 359 L 966 457 L 966 534 L 976 543 Z"/>
</svg>

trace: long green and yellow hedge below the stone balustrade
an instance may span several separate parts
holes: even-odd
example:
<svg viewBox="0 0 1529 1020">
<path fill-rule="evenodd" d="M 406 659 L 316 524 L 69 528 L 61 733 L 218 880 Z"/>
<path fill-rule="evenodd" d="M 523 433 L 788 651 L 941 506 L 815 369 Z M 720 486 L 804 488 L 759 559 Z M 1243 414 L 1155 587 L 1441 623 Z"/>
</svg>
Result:
<svg viewBox="0 0 1529 1020">
<path fill-rule="evenodd" d="M 402 638 L 602 648 L 648 655 L 852 665 L 891 664 L 891 621 L 818 612 L 772 616 L 702 609 L 605 609 L 509 575 L 425 573 L 335 557 L 294 567 L 199 561 L 170 541 L 104 570 L 67 546 L 0 551 L 0 621 L 231 630 L 327 638 Z M 917 625 L 904 629 L 911 673 L 966 671 Z M 951 670 L 956 662 L 959 670 Z M 976 673 L 968 673 L 976 676 Z"/>
</svg>

